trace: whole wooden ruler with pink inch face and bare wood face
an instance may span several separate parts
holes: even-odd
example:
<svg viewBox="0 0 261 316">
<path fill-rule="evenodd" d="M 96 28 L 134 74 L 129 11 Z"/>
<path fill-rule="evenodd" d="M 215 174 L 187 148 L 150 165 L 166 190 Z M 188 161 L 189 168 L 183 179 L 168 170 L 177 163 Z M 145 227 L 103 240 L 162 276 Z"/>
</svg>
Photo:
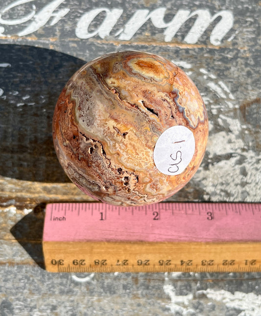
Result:
<svg viewBox="0 0 261 316">
<path fill-rule="evenodd" d="M 51 272 L 261 271 L 261 204 L 48 204 Z"/>
</svg>

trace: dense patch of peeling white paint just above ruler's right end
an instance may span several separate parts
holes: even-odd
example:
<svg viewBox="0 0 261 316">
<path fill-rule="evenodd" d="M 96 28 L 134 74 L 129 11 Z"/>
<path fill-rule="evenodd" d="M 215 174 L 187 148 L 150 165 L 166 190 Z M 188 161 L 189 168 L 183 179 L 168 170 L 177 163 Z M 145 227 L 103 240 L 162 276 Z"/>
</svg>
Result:
<svg viewBox="0 0 261 316">
<path fill-rule="evenodd" d="M 210 146 L 207 146 L 210 156 L 225 153 L 232 156 L 229 160 L 220 160 L 210 165 L 207 172 L 199 169 L 194 176 L 195 181 L 198 181 L 202 188 L 207 188 L 213 202 L 220 200 L 257 202 L 261 191 L 261 165 L 258 163 L 257 154 L 252 150 L 238 152 L 237 144 L 242 144 L 242 141 L 236 135 L 230 133 L 228 137 L 225 132 L 217 134 L 219 135 L 214 136 L 214 143 L 211 144 L 212 139 L 210 139 L 208 143 Z M 228 142 L 228 139 L 232 139 L 232 142 Z M 215 148 L 212 149 L 212 146 Z M 236 166 L 241 157 L 247 159 L 247 164 L 243 165 L 246 175 L 241 174 L 240 166 L 231 167 Z M 221 170 L 222 175 L 220 175 Z"/>
</svg>

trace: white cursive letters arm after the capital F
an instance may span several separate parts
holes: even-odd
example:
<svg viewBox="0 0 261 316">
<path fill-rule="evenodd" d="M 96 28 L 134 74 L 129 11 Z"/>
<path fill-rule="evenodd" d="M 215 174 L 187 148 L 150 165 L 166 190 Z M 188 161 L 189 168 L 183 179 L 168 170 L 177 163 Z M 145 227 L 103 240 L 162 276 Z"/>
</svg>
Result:
<svg viewBox="0 0 261 316">
<path fill-rule="evenodd" d="M 95 31 L 88 32 L 88 27 L 92 21 L 103 11 L 106 12 L 106 17 L 102 24 Z M 110 10 L 108 8 L 100 8 L 85 13 L 77 24 L 76 36 L 82 39 L 87 39 L 95 35 L 105 38 L 105 36 L 108 36 L 112 31 L 122 12 L 122 9 Z M 211 44 L 220 45 L 221 40 L 232 28 L 234 23 L 233 13 L 229 10 L 222 10 L 212 17 L 207 9 L 199 9 L 194 12 L 180 9 L 168 23 L 164 21 L 165 13 L 166 8 L 164 7 L 157 8 L 151 12 L 148 9 L 137 10 L 125 24 L 124 29 L 117 33 L 117 35 L 119 34 L 119 40 L 129 41 L 132 39 L 142 25 L 150 19 L 155 27 L 166 28 L 164 31 L 165 41 L 170 42 L 184 23 L 191 17 L 197 16 L 196 21 L 184 39 L 188 44 L 195 44 L 209 25 L 213 23 L 216 18 L 221 17 L 221 20 L 214 26 L 210 35 Z"/>
</svg>

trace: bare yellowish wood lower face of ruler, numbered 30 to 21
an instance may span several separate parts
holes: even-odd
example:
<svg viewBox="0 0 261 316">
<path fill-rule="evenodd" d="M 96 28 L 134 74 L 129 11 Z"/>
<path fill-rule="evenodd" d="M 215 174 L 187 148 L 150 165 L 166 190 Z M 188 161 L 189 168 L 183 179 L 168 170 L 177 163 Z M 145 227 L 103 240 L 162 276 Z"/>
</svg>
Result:
<svg viewBox="0 0 261 316">
<path fill-rule="evenodd" d="M 250 271 L 260 272 L 260 248 L 259 242 L 43 242 L 50 272 L 249 272 L 250 257 L 257 258 Z"/>
</svg>

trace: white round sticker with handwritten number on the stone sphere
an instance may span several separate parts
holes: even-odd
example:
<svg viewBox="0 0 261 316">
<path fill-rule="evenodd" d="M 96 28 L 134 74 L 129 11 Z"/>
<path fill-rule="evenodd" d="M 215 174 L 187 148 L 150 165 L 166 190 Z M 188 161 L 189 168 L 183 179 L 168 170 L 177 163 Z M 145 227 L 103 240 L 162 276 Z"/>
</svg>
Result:
<svg viewBox="0 0 261 316">
<path fill-rule="evenodd" d="M 195 152 L 195 139 L 191 130 L 177 125 L 166 129 L 154 148 L 155 166 L 164 174 L 177 175 L 189 165 Z"/>
</svg>

